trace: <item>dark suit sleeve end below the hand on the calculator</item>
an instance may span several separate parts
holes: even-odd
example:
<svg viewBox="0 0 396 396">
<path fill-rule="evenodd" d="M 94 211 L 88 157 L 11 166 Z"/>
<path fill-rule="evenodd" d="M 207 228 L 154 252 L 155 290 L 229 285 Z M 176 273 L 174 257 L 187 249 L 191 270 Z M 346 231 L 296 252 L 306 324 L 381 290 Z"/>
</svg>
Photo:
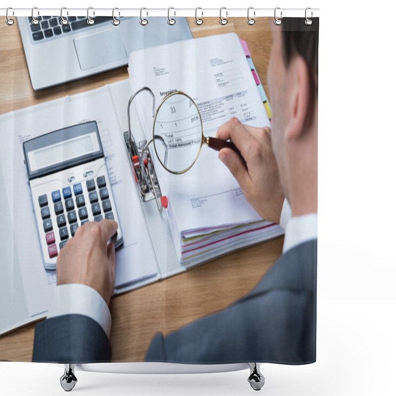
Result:
<svg viewBox="0 0 396 396">
<path fill-rule="evenodd" d="M 106 333 L 88 316 L 56 316 L 36 325 L 33 362 L 98 363 L 110 359 Z"/>
</svg>

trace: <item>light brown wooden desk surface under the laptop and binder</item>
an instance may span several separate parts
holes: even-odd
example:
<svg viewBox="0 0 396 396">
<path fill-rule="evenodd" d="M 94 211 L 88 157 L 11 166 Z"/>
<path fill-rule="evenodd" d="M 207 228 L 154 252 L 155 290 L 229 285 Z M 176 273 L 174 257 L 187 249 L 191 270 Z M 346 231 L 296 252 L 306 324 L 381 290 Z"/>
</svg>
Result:
<svg viewBox="0 0 396 396">
<path fill-rule="evenodd" d="M 188 22 L 195 38 L 236 32 L 247 42 L 251 58 L 268 95 L 267 66 L 271 31 L 267 18 L 205 18 L 201 26 Z M 0 113 L 74 95 L 128 78 L 126 67 L 34 92 L 16 26 L 0 18 Z M 270 98 L 269 98 L 270 99 Z M 282 252 L 283 238 L 240 250 L 183 274 L 113 297 L 110 303 L 112 360 L 143 361 L 155 333 L 165 334 L 205 315 L 224 309 L 246 295 Z M 35 324 L 0 337 L 0 359 L 31 361 Z"/>
</svg>

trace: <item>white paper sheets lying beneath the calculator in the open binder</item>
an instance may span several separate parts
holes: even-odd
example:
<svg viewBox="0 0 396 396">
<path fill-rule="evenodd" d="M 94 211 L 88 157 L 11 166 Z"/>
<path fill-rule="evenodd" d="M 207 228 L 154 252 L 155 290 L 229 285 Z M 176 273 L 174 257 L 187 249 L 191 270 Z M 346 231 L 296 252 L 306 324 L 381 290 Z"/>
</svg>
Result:
<svg viewBox="0 0 396 396">
<path fill-rule="evenodd" d="M 96 120 L 106 157 L 123 247 L 116 252 L 115 286 L 157 274 L 146 222 L 136 194 L 108 86 L 0 116 L 0 164 L 5 179 L 30 316 L 48 309 L 55 271 L 46 271 L 34 218 L 22 143 L 44 133 Z M 3 247 L 2 247 L 3 248 Z"/>
</svg>

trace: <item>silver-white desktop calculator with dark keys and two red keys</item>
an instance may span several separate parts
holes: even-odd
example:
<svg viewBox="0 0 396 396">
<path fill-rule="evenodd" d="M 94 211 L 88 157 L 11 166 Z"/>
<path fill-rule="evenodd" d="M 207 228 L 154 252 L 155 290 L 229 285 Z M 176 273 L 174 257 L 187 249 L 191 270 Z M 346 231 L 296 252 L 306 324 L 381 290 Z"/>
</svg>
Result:
<svg viewBox="0 0 396 396">
<path fill-rule="evenodd" d="M 44 265 L 56 269 L 56 257 L 78 227 L 103 218 L 122 233 L 96 121 L 73 125 L 23 143 Z"/>
</svg>

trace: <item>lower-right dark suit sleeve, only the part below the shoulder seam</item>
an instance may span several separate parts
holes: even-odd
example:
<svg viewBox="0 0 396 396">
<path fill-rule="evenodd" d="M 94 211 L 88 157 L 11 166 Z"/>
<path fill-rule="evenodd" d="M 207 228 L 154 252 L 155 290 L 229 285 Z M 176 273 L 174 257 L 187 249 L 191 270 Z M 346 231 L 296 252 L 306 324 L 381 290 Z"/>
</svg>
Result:
<svg viewBox="0 0 396 396">
<path fill-rule="evenodd" d="M 221 364 L 315 361 L 310 293 L 273 290 L 244 300 L 164 337 L 146 361 Z"/>
</svg>

